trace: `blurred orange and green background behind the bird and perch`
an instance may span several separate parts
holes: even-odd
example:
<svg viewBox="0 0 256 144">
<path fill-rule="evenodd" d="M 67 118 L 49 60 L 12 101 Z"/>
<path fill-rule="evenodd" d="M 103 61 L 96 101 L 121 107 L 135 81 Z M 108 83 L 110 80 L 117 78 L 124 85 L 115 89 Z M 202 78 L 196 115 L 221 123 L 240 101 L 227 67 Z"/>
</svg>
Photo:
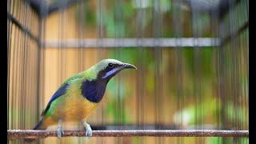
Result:
<svg viewBox="0 0 256 144">
<path fill-rule="evenodd" d="M 93 130 L 248 130 L 248 7 L 248 0 L 8 0 L 8 130 L 34 127 L 58 86 L 103 58 L 134 64 L 138 70 L 124 70 L 110 80 L 87 120 Z M 54 142 L 249 140 L 36 141 Z"/>
</svg>

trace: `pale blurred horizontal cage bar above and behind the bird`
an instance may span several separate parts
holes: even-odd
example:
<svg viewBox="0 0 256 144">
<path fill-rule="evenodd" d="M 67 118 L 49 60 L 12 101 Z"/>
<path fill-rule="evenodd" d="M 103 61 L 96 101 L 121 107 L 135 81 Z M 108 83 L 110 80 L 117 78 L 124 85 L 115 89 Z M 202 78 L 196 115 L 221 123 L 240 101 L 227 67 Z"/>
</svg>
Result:
<svg viewBox="0 0 256 144">
<path fill-rule="evenodd" d="M 219 46 L 218 38 L 86 38 L 66 39 L 59 42 L 47 39 L 46 47 L 184 47 L 184 46 Z"/>
</svg>

